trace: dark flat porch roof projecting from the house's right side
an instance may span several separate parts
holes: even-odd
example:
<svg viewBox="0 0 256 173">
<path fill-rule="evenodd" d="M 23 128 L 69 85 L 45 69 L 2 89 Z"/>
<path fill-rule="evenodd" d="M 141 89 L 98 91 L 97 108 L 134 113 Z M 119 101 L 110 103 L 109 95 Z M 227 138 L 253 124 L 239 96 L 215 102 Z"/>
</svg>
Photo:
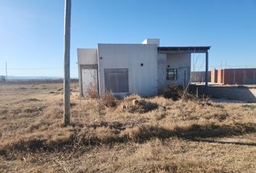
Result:
<svg viewBox="0 0 256 173">
<path fill-rule="evenodd" d="M 206 53 L 210 46 L 158 47 L 159 53 Z"/>
</svg>

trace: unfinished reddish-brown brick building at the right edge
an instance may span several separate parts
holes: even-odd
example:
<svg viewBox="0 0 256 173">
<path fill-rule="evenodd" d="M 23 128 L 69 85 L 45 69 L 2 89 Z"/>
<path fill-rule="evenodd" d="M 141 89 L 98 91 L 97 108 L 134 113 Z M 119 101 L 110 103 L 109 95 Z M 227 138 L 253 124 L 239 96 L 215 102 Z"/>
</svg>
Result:
<svg viewBox="0 0 256 173">
<path fill-rule="evenodd" d="M 217 84 L 256 84 L 256 68 L 214 69 L 211 82 Z"/>
</svg>

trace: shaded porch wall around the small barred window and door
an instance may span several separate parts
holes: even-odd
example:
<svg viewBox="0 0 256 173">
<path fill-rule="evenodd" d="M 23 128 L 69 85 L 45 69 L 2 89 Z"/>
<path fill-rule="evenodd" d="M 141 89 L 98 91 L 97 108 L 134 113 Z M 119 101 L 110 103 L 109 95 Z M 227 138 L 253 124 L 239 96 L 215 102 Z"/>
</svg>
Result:
<svg viewBox="0 0 256 173">
<path fill-rule="evenodd" d="M 170 66 L 170 67 L 168 67 Z M 190 66 L 191 66 L 191 53 L 176 53 L 176 54 L 167 54 L 166 57 L 166 68 L 177 68 L 178 69 L 178 77 L 176 81 L 166 81 L 166 84 L 183 84 L 183 81 L 179 75 L 180 68 L 187 68 L 188 80 L 190 77 Z"/>
</svg>

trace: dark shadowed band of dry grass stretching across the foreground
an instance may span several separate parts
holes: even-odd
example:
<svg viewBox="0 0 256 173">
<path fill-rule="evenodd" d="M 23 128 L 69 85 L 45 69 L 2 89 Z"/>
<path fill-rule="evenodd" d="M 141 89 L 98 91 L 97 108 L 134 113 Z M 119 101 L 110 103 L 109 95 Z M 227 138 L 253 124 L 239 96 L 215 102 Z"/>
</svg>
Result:
<svg viewBox="0 0 256 173">
<path fill-rule="evenodd" d="M 103 126 L 111 128 L 121 128 L 121 124 L 103 123 Z M 95 126 L 96 128 L 97 126 Z M 177 127 L 173 130 L 169 130 L 163 127 L 141 125 L 134 128 L 128 128 L 123 130 L 123 133 L 116 133 L 114 136 L 104 136 L 104 138 L 98 138 L 97 136 L 88 136 L 87 132 L 81 130 L 74 131 L 69 138 L 59 141 L 48 141 L 42 138 L 31 138 L 29 140 L 21 140 L 17 143 L 12 143 L 8 146 L 0 148 L 1 156 L 8 156 L 9 151 L 73 151 L 74 148 L 81 148 L 82 146 L 99 146 L 99 145 L 111 145 L 114 143 L 127 143 L 133 141 L 135 143 L 145 143 L 151 138 L 170 138 L 178 137 L 190 141 L 203 141 L 209 143 L 233 143 L 237 145 L 256 146 L 256 143 L 240 143 L 240 142 L 224 142 L 224 141 L 211 141 L 205 138 L 210 137 L 227 137 L 227 136 L 240 136 L 246 133 L 255 133 L 256 124 L 234 124 L 234 125 L 190 125 L 187 128 Z"/>
</svg>

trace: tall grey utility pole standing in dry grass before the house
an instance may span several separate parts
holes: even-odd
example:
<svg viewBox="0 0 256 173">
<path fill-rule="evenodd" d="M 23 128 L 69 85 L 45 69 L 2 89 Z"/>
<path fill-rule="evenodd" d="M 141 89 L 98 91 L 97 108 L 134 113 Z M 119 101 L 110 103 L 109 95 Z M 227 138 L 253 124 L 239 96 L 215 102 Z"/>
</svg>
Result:
<svg viewBox="0 0 256 173">
<path fill-rule="evenodd" d="M 70 22 L 71 0 L 65 0 L 64 14 L 64 125 L 70 124 Z"/>
</svg>

